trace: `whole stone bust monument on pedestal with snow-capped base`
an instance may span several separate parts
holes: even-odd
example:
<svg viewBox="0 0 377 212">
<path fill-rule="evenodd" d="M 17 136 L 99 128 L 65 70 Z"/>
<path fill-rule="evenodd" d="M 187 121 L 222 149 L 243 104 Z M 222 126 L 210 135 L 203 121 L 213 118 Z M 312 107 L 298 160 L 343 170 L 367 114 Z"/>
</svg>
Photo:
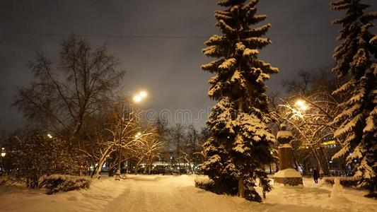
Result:
<svg viewBox="0 0 377 212">
<path fill-rule="evenodd" d="M 300 172 L 294 170 L 293 148 L 289 141 L 293 139 L 286 125 L 281 125 L 281 131 L 277 133 L 279 141 L 279 172 L 274 175 L 274 184 L 284 187 L 303 187 L 303 179 Z"/>
</svg>

